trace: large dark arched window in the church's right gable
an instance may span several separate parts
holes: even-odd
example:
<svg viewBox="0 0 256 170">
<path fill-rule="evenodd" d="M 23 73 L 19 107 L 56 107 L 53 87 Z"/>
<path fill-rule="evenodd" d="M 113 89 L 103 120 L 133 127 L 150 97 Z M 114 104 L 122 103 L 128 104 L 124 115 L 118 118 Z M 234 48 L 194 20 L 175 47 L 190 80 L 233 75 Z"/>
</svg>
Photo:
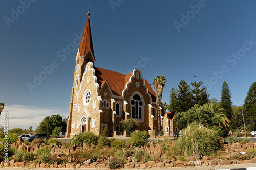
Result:
<svg viewBox="0 0 256 170">
<path fill-rule="evenodd" d="M 134 94 L 133 99 L 131 100 L 132 105 L 132 118 L 142 120 L 143 118 L 143 102 L 138 94 Z"/>
</svg>

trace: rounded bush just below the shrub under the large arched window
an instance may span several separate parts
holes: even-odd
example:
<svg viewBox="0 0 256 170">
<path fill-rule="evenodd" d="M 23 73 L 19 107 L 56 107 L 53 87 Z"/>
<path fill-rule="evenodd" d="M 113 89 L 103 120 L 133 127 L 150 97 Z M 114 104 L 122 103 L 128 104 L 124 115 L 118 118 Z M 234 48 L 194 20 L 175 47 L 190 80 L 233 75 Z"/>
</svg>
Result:
<svg viewBox="0 0 256 170">
<path fill-rule="evenodd" d="M 135 147 L 144 146 L 148 141 L 148 138 L 150 137 L 150 135 L 146 131 L 142 131 L 142 132 L 135 131 L 135 132 L 132 132 L 130 136 L 131 136 L 131 139 L 128 140 L 128 143 Z"/>
</svg>

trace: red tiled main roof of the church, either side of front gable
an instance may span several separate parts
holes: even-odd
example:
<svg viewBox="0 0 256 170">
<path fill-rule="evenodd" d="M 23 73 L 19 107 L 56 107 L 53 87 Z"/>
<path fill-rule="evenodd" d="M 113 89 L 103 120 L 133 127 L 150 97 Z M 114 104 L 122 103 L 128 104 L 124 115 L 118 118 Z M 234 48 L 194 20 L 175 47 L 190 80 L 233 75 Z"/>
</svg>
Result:
<svg viewBox="0 0 256 170">
<path fill-rule="evenodd" d="M 112 90 L 113 95 L 122 96 L 122 91 L 125 89 L 126 83 L 129 82 L 130 77 L 133 73 L 129 73 L 127 75 L 121 74 L 119 72 L 94 67 L 95 76 L 97 77 L 97 83 L 100 86 L 100 89 L 103 87 L 105 81 L 108 81 L 109 86 Z M 156 94 L 151 88 L 150 84 L 145 80 L 145 85 L 147 86 L 148 92 L 151 95 L 152 102 L 156 101 Z"/>
</svg>

